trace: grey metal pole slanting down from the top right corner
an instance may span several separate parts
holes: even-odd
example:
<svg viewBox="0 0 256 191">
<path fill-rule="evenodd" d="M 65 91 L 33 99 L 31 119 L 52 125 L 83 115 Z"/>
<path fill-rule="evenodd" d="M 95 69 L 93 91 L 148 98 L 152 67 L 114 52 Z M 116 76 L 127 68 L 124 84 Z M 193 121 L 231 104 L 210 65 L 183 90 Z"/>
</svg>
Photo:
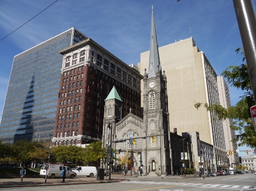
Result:
<svg viewBox="0 0 256 191">
<path fill-rule="evenodd" d="M 256 97 L 256 19 L 251 0 L 233 0 L 251 86 Z M 256 102 L 256 99 L 255 99 Z"/>
</svg>

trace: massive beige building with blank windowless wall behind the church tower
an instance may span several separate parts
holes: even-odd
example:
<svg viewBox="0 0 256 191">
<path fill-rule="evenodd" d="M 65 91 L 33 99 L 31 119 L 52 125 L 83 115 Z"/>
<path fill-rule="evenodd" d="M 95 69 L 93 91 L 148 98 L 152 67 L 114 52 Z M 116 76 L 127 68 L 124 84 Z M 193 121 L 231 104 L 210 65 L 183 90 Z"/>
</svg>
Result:
<svg viewBox="0 0 256 191">
<path fill-rule="evenodd" d="M 182 132 L 199 132 L 200 140 L 214 146 L 216 168 L 229 166 L 222 121 L 206 108 L 194 107 L 195 102 L 219 103 L 217 75 L 207 57 L 193 38 L 159 47 L 161 69 L 168 79 L 169 128 Z M 138 64 L 141 74 L 148 68 L 149 51 L 141 53 Z M 143 89 L 141 83 L 141 89 Z M 143 97 L 141 96 L 141 101 Z M 142 103 L 141 103 L 142 105 Z"/>
</svg>

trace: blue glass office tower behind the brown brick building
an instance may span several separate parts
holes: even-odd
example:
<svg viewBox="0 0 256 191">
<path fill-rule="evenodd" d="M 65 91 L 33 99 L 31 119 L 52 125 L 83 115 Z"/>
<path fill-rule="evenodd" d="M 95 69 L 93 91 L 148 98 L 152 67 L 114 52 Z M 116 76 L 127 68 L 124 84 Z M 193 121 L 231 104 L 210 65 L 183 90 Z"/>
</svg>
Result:
<svg viewBox="0 0 256 191">
<path fill-rule="evenodd" d="M 59 51 L 85 39 L 85 35 L 71 28 L 14 57 L 0 139 L 50 140 L 63 60 Z"/>
</svg>

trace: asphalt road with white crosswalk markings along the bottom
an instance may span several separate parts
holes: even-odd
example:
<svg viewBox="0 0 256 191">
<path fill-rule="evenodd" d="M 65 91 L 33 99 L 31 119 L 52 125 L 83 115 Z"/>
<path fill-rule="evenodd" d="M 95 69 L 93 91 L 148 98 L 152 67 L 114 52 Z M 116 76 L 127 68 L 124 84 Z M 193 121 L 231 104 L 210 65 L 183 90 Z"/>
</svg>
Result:
<svg viewBox="0 0 256 191">
<path fill-rule="evenodd" d="M 137 177 L 117 183 L 2 188 L 1 191 L 256 191 L 256 175 L 175 178 Z"/>
</svg>

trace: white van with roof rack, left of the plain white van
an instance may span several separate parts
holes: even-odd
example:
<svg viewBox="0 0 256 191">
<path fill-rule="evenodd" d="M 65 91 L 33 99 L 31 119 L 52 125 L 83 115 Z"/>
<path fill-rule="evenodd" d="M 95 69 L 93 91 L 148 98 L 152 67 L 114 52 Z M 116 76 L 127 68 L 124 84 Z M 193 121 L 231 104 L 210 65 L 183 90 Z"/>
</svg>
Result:
<svg viewBox="0 0 256 191">
<path fill-rule="evenodd" d="M 69 177 L 69 178 L 75 177 L 75 172 L 73 172 L 68 166 L 63 166 L 63 165 L 49 165 L 47 177 L 50 177 L 50 178 L 61 177 L 63 168 L 64 169 L 66 168 L 66 178 L 67 177 Z M 41 177 L 45 177 L 46 169 L 47 169 L 46 165 L 43 165 L 41 167 L 41 170 L 40 170 Z"/>
</svg>

